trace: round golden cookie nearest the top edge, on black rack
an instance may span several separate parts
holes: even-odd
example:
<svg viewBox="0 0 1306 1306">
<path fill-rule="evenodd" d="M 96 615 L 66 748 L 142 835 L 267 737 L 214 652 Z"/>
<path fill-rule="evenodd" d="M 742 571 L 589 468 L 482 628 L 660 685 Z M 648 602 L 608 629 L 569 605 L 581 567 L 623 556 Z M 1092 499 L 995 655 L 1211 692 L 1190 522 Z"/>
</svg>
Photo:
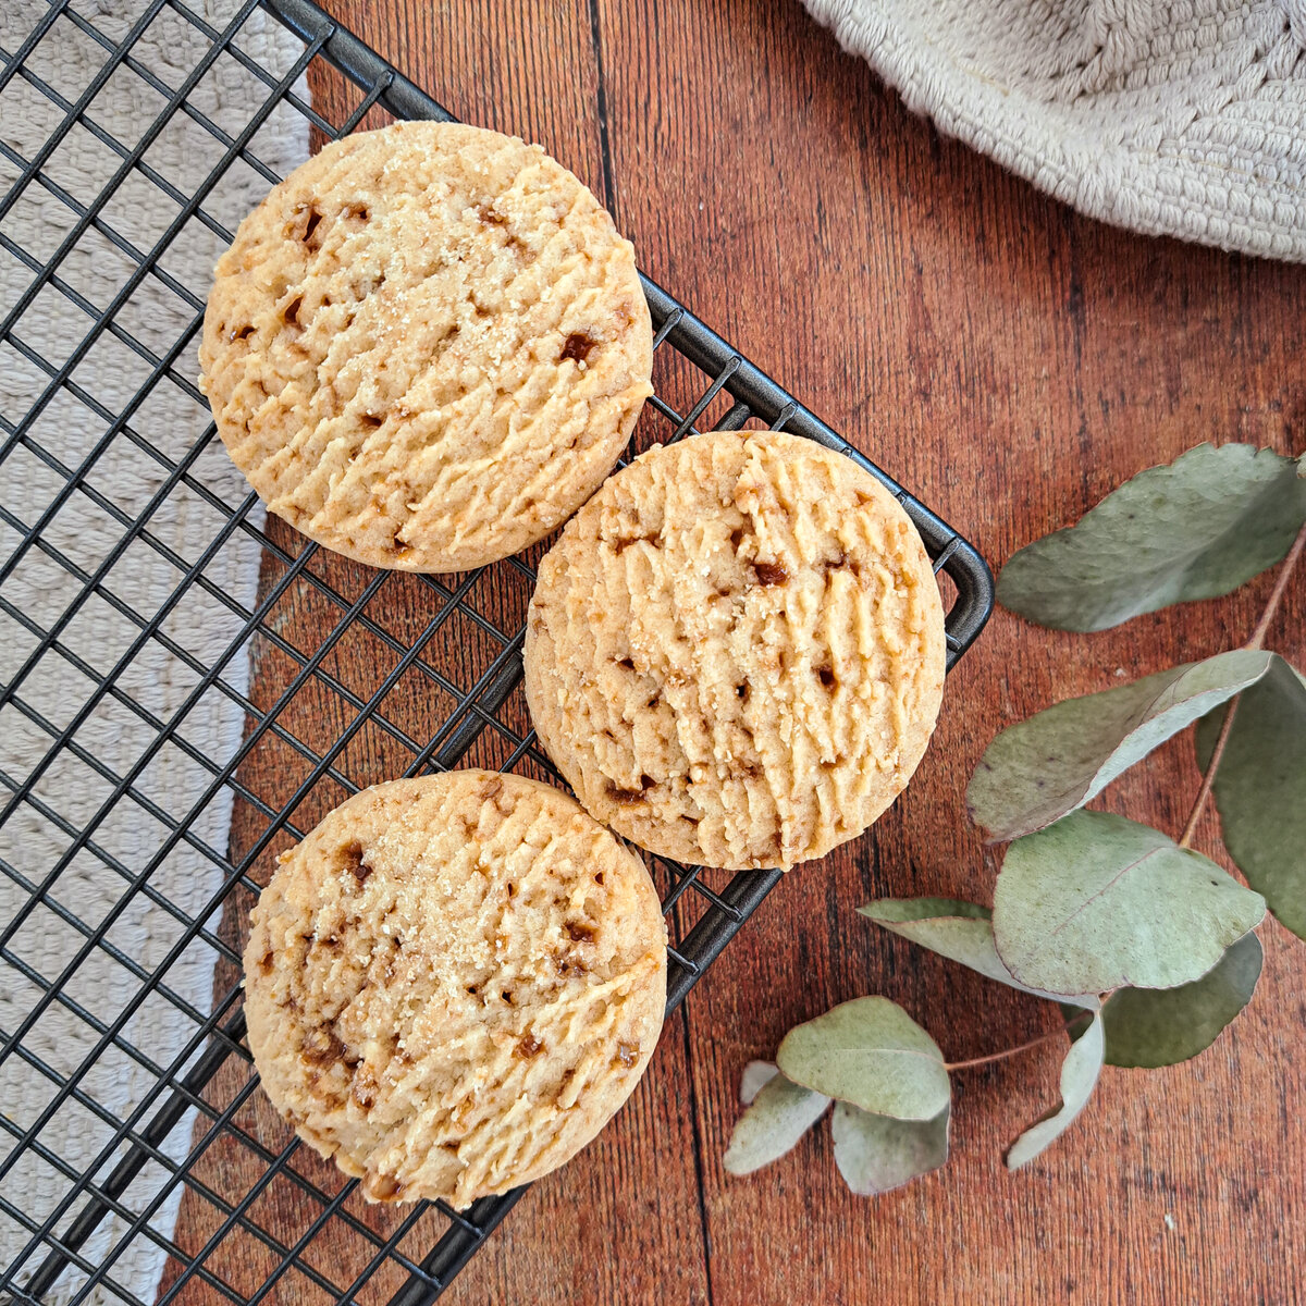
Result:
<svg viewBox="0 0 1306 1306">
<path fill-rule="evenodd" d="M 319 543 L 405 571 L 505 558 L 611 470 L 648 394 L 635 255 L 539 146 L 452 123 L 328 145 L 218 260 L 218 434 Z"/>
</svg>

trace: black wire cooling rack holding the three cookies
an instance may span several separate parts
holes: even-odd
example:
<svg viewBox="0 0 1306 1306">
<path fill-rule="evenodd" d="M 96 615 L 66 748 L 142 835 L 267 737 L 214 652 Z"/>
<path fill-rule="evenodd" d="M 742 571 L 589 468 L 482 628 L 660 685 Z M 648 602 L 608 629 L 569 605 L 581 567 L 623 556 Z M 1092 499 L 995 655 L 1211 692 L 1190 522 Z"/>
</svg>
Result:
<svg viewBox="0 0 1306 1306">
<path fill-rule="evenodd" d="M 199 31 L 205 46 L 195 67 L 172 67 L 167 76 L 138 57 L 142 33 L 162 13 Z M 289 68 L 273 71 L 248 52 L 243 34 L 256 18 L 282 25 L 302 44 Z M 103 52 L 101 71 L 76 97 L 50 85 L 31 59 L 42 43 L 68 39 L 73 33 Z M 4 1008 L 13 1012 L 13 1024 L 0 1029 L 0 1067 L 17 1059 L 48 1091 L 26 1123 L 16 1123 L 9 1110 L 0 1113 L 0 1140 L 7 1140 L 0 1152 L 0 1222 L 21 1230 L 24 1243 L 3 1269 L 0 1292 L 14 1302 L 76 1306 L 82 1301 L 123 1301 L 145 1306 L 124 1286 L 115 1267 L 132 1254 L 133 1245 L 149 1243 L 167 1264 L 157 1297 L 161 1306 L 178 1299 L 249 1306 L 264 1299 L 388 1301 L 393 1306 L 430 1302 L 520 1191 L 483 1199 L 466 1212 L 440 1203 L 366 1207 L 355 1181 L 346 1182 L 279 1121 L 266 1111 L 260 1114 L 257 1079 L 244 1045 L 240 930 L 274 854 L 366 784 L 460 763 L 516 768 L 556 780 L 535 746 L 520 691 L 521 618 L 533 579 L 530 559 L 509 559 L 460 577 L 371 572 L 346 563 L 279 522 L 269 518 L 264 524 L 253 494 L 232 503 L 215 492 L 205 475 L 210 456 L 221 457 L 213 426 L 189 447 L 171 448 L 150 424 L 149 400 L 157 389 L 172 387 L 206 413 L 193 380 L 206 287 L 188 286 L 172 276 L 167 253 L 196 223 L 219 244 L 230 242 L 231 231 L 206 206 L 227 170 L 244 166 L 268 184 L 277 180 L 276 170 L 257 153 L 260 129 L 274 112 L 303 115 L 323 138 L 342 136 L 364 119 L 451 115 L 307 0 L 248 0 L 222 30 L 180 0 L 142 0 L 140 17 L 121 38 L 107 35 L 94 17 L 88 18 L 68 0 L 56 0 L 16 48 L 0 50 L 0 93 L 21 82 L 52 102 L 59 115 L 57 128 L 29 155 L 0 137 L 0 153 L 18 174 L 0 201 L 0 248 L 31 274 L 29 289 L 0 321 L 0 346 L 35 367 L 44 384 L 37 404 L 22 413 L 4 410 L 0 389 L 0 464 L 8 461 L 0 470 L 0 495 L 16 475 L 12 460 L 17 451 L 39 462 L 43 474 L 54 473 L 56 485 L 35 520 L 21 518 L 0 500 L 0 521 L 16 539 L 0 564 L 4 639 L 21 635 L 29 649 L 0 688 L 0 710 L 10 714 L 7 721 L 21 716 L 25 729 L 47 741 L 44 755 L 26 776 L 0 772 L 0 786 L 7 791 L 0 794 L 5 799 L 0 829 L 26 810 L 64 840 L 63 852 L 47 866 L 14 865 L 8 857 L 0 861 L 0 871 L 20 897 L 12 917 L 0 919 L 0 957 L 7 964 L 0 974 L 7 987 L 21 994 L 17 1007 Z M 192 95 L 219 61 L 239 68 L 261 88 L 260 107 L 239 131 L 219 125 L 196 107 Z M 303 90 L 306 72 L 323 61 L 336 71 L 330 76 L 342 76 L 351 88 L 354 107 L 341 121 L 328 121 Z M 95 116 L 97 94 L 110 76 L 121 74 L 140 78 L 161 104 L 157 116 L 145 115 L 135 141 L 119 140 Z M 151 142 L 178 115 L 202 129 L 212 150 L 212 170 L 189 189 L 163 175 L 149 154 Z M 89 132 L 116 155 L 111 184 L 91 199 L 71 193 L 51 163 L 74 129 Z M 176 209 L 175 219 L 151 248 L 137 247 L 112 221 L 111 201 L 128 179 L 162 189 Z M 29 251 L 7 229 L 5 215 L 29 188 L 54 196 L 76 219 L 68 239 L 54 252 Z M 90 302 L 61 276 L 68 249 L 88 232 L 116 251 L 127 269 L 107 304 Z M 146 279 L 175 295 L 189 321 L 165 349 L 146 343 L 121 312 Z M 666 291 L 648 279 L 644 290 L 656 329 L 658 393 L 641 418 L 636 445 L 751 423 L 807 436 L 854 458 L 900 499 L 925 538 L 935 571 L 955 589 L 947 618 L 951 667 L 993 606 L 991 577 L 976 550 Z M 64 342 L 61 360 L 47 358 L 26 330 L 30 316 L 25 315 L 48 294 L 61 295 L 84 319 L 84 333 Z M 78 364 L 88 350 L 104 340 L 125 347 L 148 374 L 131 400 L 118 406 L 106 406 L 78 380 Z M 60 396 L 76 398 L 94 428 L 86 452 L 72 464 L 35 434 L 40 411 Z M 107 451 L 124 441 L 153 465 L 150 492 L 142 494 L 144 502 L 128 505 L 97 486 L 97 468 Z M 212 538 L 199 546 L 168 541 L 155 529 L 161 505 L 183 494 L 213 512 Z M 112 529 L 115 542 L 93 565 L 69 556 L 54 529 L 74 496 L 90 500 Z M 256 541 L 261 549 L 261 579 L 252 603 L 230 593 L 213 575 L 212 563 L 236 538 Z M 114 585 L 115 565 L 140 549 L 166 558 L 176 572 L 171 592 L 153 610 Z M 35 560 L 60 568 L 77 586 L 63 611 L 44 623 L 5 593 L 7 582 Z M 196 597 L 222 605 L 238 623 L 238 633 L 222 649 L 195 649 L 178 633 L 184 631 L 187 605 Z M 107 669 L 76 652 L 68 635 L 93 601 L 107 605 L 135 631 L 131 644 Z M 142 705 L 132 691 L 128 673 L 151 646 L 165 649 L 192 677 L 188 692 L 168 716 Z M 232 683 L 232 667 L 251 656 L 260 674 L 246 691 Z M 85 677 L 85 696 L 69 704 L 63 721 L 43 714 L 25 690 L 39 682 L 50 660 L 76 666 Z M 193 704 L 213 693 L 244 714 L 243 737 L 226 756 L 208 755 L 185 729 Z M 82 725 L 104 703 L 123 708 L 150 733 L 149 746 L 129 765 L 116 767 L 82 738 Z M 142 781 L 165 750 L 202 771 L 202 790 L 185 811 L 161 806 Z M 107 786 L 107 797 L 89 818 L 71 819 L 43 791 L 42 777 L 60 756 L 76 757 Z M 206 844 L 195 827 L 196 814 L 221 793 L 229 793 L 234 802 L 232 836 L 225 849 Z M 148 812 L 157 829 L 153 846 L 132 862 L 98 837 L 124 804 Z M 180 846 L 201 854 L 219 882 L 199 909 L 183 908 L 159 887 L 158 867 Z M 98 921 L 82 919 L 76 896 L 64 892 L 72 879 L 69 866 L 85 857 L 95 861 L 99 874 L 120 880 L 116 906 Z M 675 940 L 667 986 L 667 1007 L 674 1010 L 780 872 L 747 871 L 713 888 L 710 872 L 705 876 L 701 868 L 661 858 L 650 865 Z M 114 934 L 128 904 L 142 901 L 166 917 L 175 934 L 166 955 L 149 966 L 124 951 Z M 24 930 L 38 912 L 40 919 L 72 931 L 76 943 L 57 973 L 43 973 L 21 947 Z M 199 1010 L 170 985 L 170 972 L 196 955 L 215 968 L 210 1010 Z M 111 1016 L 98 1013 L 91 1002 L 77 995 L 73 981 L 90 957 L 107 959 L 116 968 L 119 993 Z M 132 1024 L 146 1003 L 159 1000 L 182 1011 L 189 1029 L 184 1043 L 165 1049 L 166 1055 L 142 1046 Z M 31 1037 L 52 1008 L 86 1027 L 90 1051 L 74 1068 L 57 1068 Z M 93 1070 L 110 1054 L 149 1080 L 148 1089 L 121 1113 L 107 1107 L 94 1087 Z M 74 1109 L 103 1131 L 103 1145 L 90 1164 L 71 1164 L 52 1141 L 57 1139 L 52 1123 Z M 179 1160 L 167 1140 L 182 1128 L 187 1143 Z M 247 1169 L 251 1162 L 255 1166 L 257 1177 L 246 1191 L 223 1187 L 219 1162 L 234 1155 L 243 1156 Z M 34 1212 L 25 1200 L 25 1183 L 38 1168 L 56 1175 L 63 1192 L 50 1209 Z M 142 1173 L 154 1175 L 144 1196 L 138 1185 Z M 192 1232 L 184 1246 L 176 1241 L 180 1228 L 159 1228 L 158 1213 L 170 1200 L 189 1202 L 201 1212 L 201 1218 L 189 1221 Z M 111 1218 L 120 1237 L 94 1250 L 97 1230 Z M 239 1255 L 231 1254 L 235 1245 L 243 1249 Z M 325 1246 L 332 1249 L 329 1262 L 319 1254 Z M 351 1281 L 338 1281 L 341 1267 Z"/>
</svg>

